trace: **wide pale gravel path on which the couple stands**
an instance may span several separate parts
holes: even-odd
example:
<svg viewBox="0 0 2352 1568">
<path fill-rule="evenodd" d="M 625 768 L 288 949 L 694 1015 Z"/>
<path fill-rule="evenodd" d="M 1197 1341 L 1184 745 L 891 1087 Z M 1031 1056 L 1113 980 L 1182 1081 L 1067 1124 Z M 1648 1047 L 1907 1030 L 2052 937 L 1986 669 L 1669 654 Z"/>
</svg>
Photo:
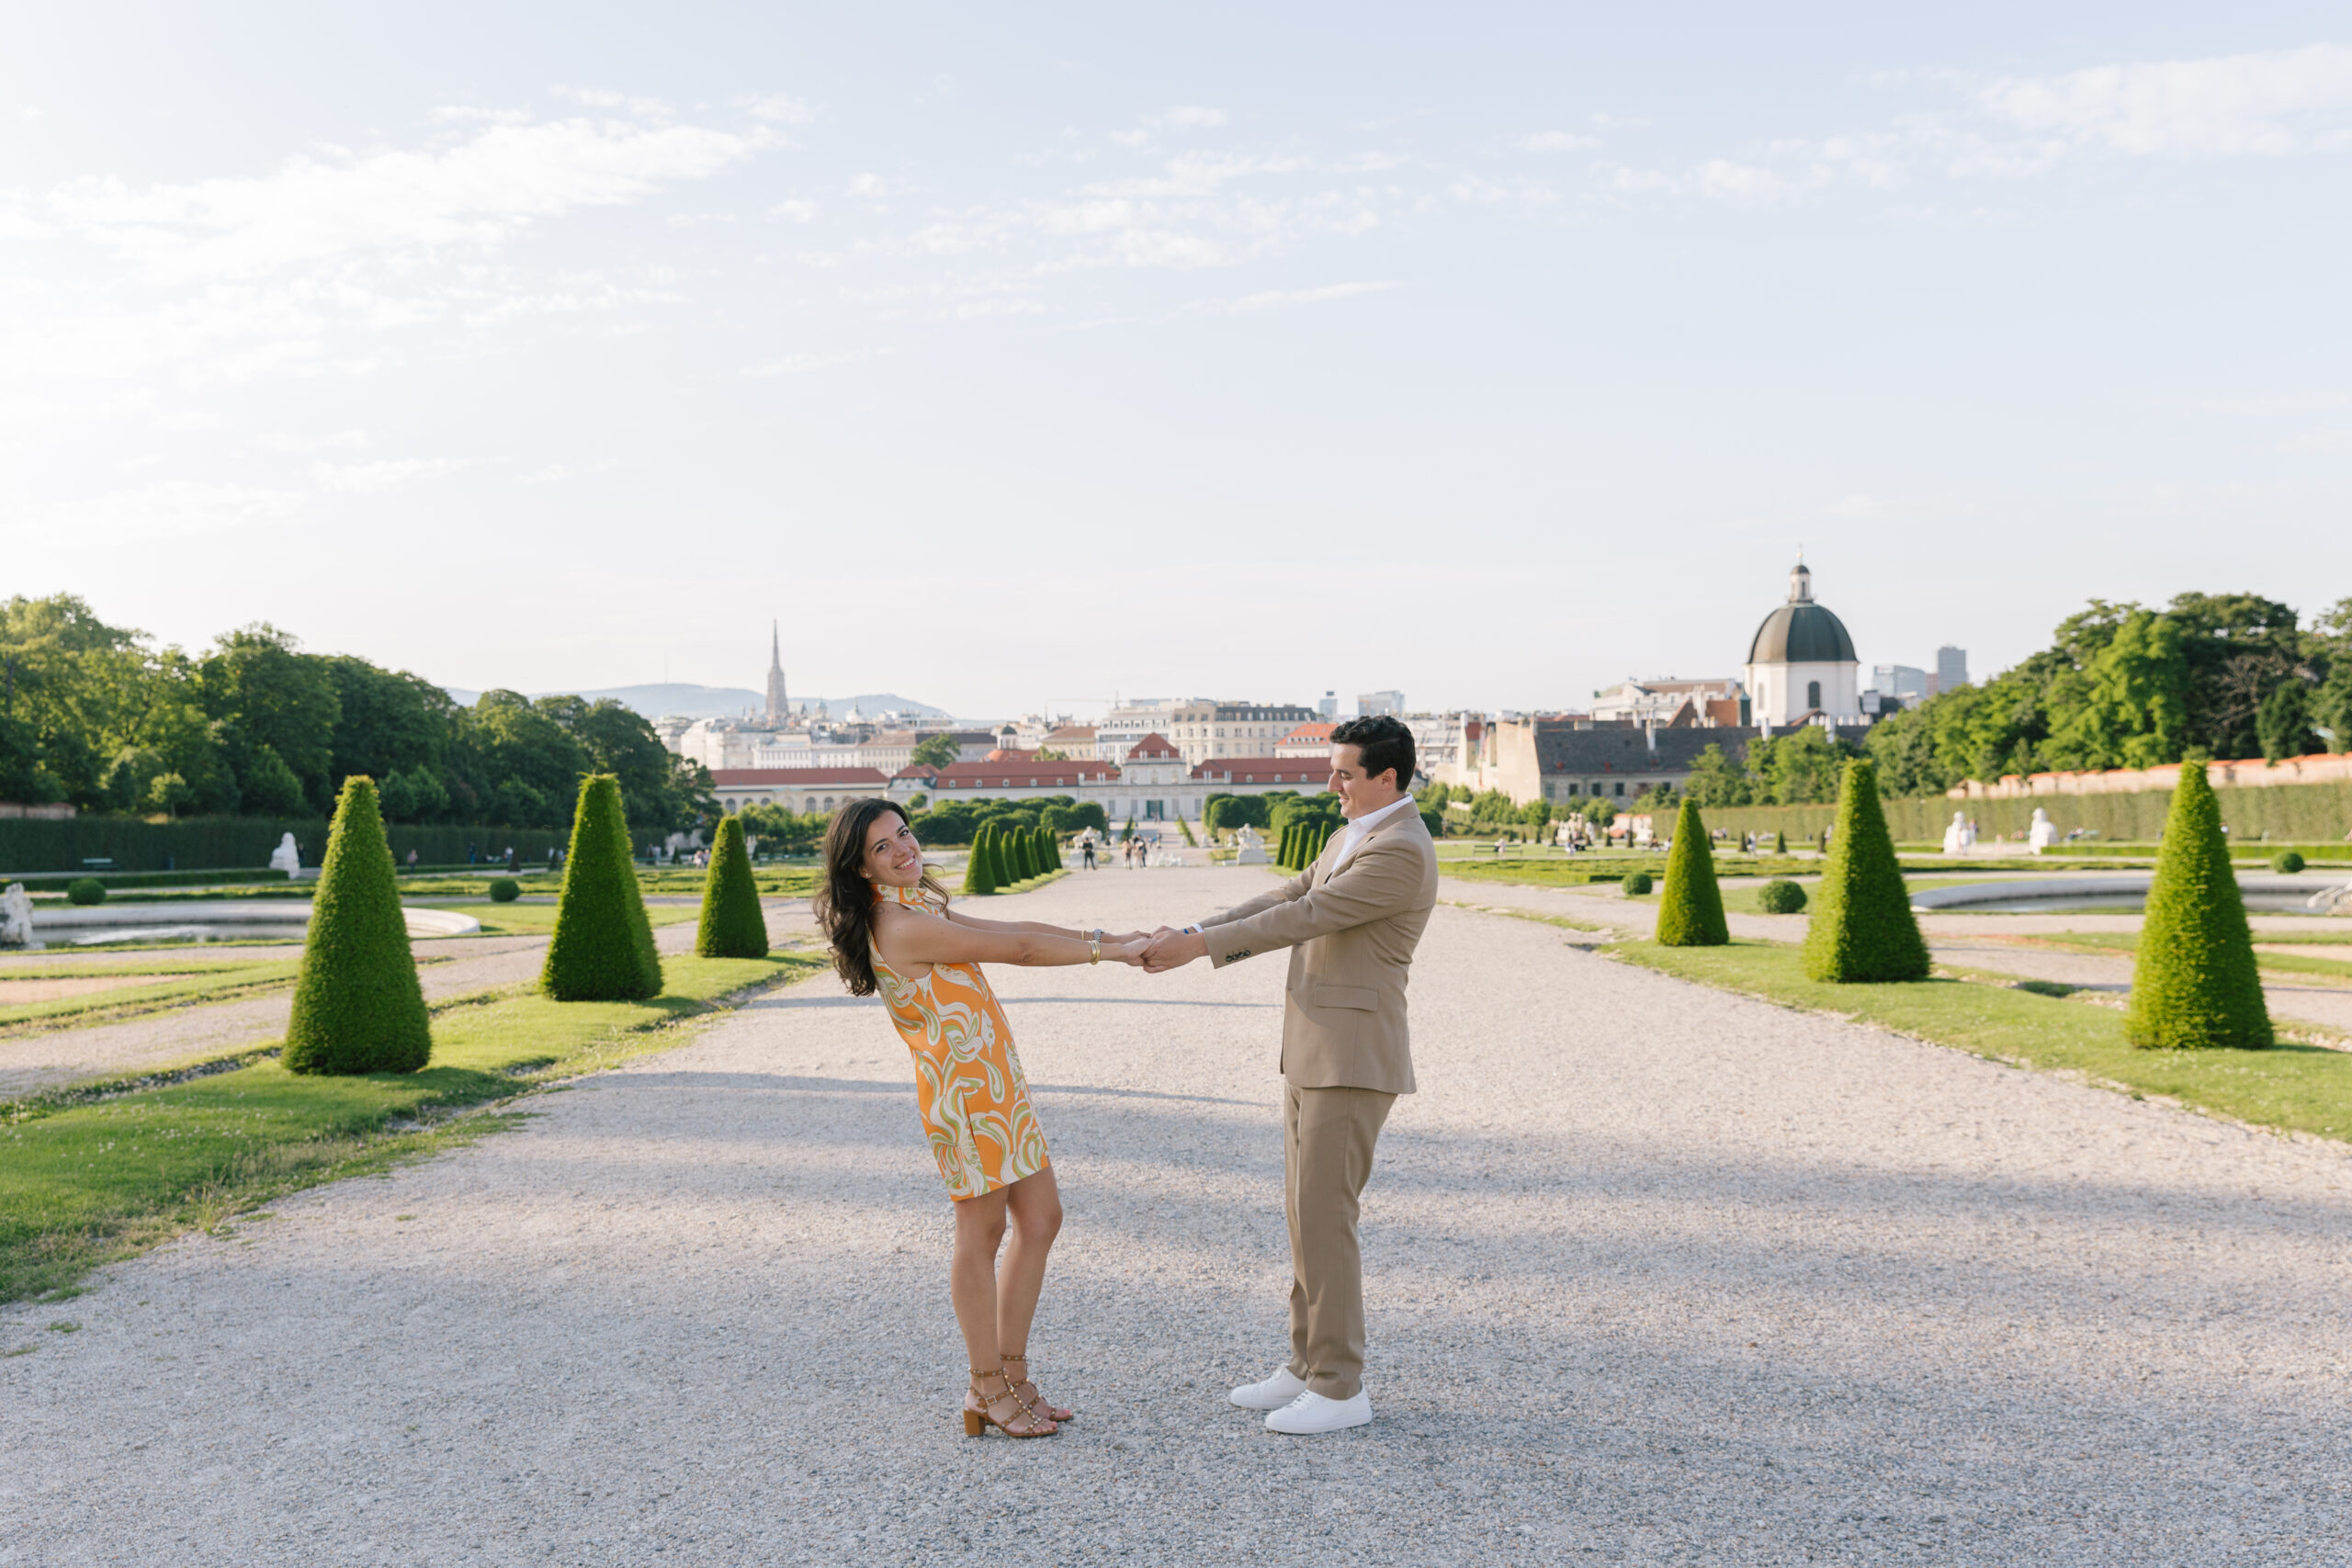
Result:
<svg viewBox="0 0 2352 1568">
<path fill-rule="evenodd" d="M 1195 914 L 1254 872 L 995 900 Z M 1451 889 L 1449 889 L 1451 891 Z M 1084 1410 L 967 1441 L 906 1053 L 816 978 L 0 1314 L 0 1563 L 2343 1563 L 2352 1159 L 1439 910 L 1378 1420 L 1277 1439 L 1282 964 L 1002 971 Z M 40 1324 L 73 1319 L 78 1333 Z"/>
</svg>

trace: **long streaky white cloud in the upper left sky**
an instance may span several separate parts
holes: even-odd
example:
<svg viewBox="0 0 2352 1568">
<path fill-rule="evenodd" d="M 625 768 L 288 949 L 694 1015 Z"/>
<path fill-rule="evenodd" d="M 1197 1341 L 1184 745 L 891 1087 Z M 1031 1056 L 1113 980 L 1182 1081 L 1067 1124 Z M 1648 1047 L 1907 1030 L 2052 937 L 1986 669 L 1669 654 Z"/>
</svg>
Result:
<svg viewBox="0 0 2352 1568">
<path fill-rule="evenodd" d="M 499 125 L 437 153 L 327 150 L 259 179 L 139 190 L 82 181 L 49 209 L 151 273 L 252 277 L 355 252 L 492 244 L 534 219 L 708 179 L 750 158 L 762 136 L 609 120 Z"/>
</svg>

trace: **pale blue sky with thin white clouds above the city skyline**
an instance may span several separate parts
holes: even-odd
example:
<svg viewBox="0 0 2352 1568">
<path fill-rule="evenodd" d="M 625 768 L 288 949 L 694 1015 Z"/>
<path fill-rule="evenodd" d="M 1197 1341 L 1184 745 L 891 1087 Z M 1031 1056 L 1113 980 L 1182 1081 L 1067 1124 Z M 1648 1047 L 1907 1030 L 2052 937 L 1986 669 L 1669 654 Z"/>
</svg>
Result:
<svg viewBox="0 0 2352 1568">
<path fill-rule="evenodd" d="M 2319 5 L 71 5 L 0 595 L 452 686 L 1576 708 L 2352 595 Z"/>
</svg>

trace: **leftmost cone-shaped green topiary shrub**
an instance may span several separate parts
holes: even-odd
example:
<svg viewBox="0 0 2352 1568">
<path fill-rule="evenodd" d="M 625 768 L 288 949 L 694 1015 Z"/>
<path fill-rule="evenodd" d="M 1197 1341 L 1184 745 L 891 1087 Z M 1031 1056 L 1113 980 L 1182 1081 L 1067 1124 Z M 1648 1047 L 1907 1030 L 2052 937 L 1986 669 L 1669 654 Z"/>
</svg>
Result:
<svg viewBox="0 0 2352 1568">
<path fill-rule="evenodd" d="M 327 832 L 282 1060 L 287 1072 L 416 1072 L 430 1056 L 376 780 L 353 773 Z"/>
</svg>

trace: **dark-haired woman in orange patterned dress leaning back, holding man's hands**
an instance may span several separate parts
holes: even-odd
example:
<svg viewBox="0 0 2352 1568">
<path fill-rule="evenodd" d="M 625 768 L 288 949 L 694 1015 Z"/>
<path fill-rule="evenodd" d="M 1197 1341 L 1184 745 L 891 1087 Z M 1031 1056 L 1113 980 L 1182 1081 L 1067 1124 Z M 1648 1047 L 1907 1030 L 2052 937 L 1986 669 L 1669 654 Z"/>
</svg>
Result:
<svg viewBox="0 0 2352 1568">
<path fill-rule="evenodd" d="M 906 813 L 887 799 L 854 799 L 833 813 L 816 919 L 849 992 L 880 994 L 915 1056 L 922 1128 L 955 1201 L 948 1293 L 971 1366 L 964 1432 L 1051 1436 L 1070 1413 L 1047 1406 L 1030 1382 L 1028 1331 L 1061 1229 L 1061 1194 L 1011 1025 L 981 964 L 1141 964 L 1143 933 L 1105 938 L 950 910 Z"/>
</svg>

